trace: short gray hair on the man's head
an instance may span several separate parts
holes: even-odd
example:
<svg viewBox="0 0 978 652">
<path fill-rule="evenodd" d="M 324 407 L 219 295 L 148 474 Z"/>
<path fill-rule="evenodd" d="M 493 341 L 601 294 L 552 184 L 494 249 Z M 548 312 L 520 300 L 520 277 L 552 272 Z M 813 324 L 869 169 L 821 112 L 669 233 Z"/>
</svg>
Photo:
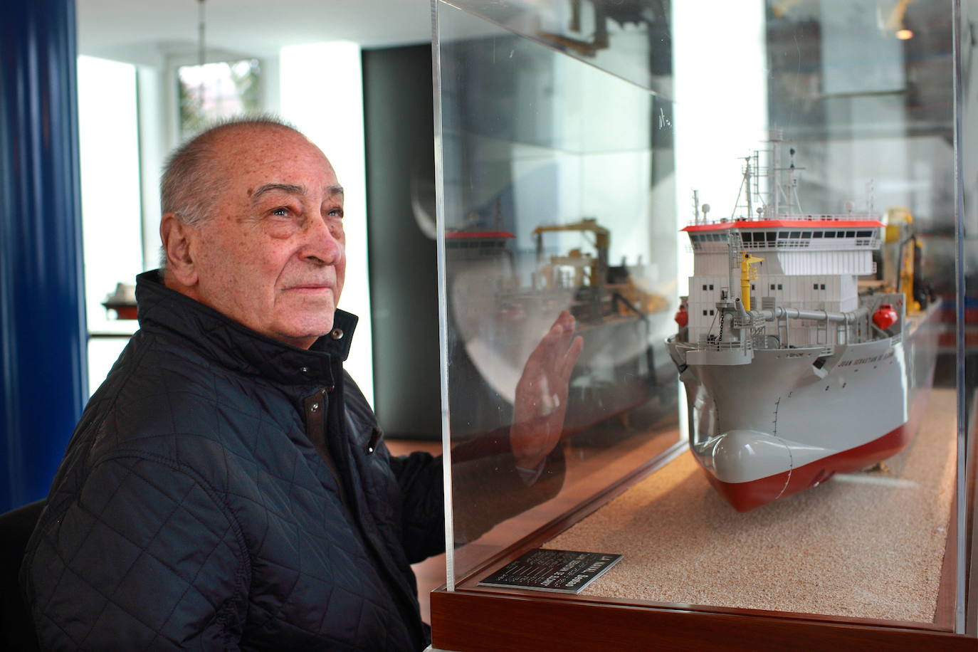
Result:
<svg viewBox="0 0 978 652">
<path fill-rule="evenodd" d="M 214 164 L 214 142 L 227 131 L 246 128 L 288 129 L 300 136 L 294 126 L 270 113 L 240 115 L 211 123 L 199 134 L 174 150 L 166 159 L 159 180 L 162 214 L 173 213 L 190 226 L 198 226 L 214 214 L 214 203 L 227 188 L 228 180 Z M 160 268 L 166 267 L 166 252 L 160 250 Z"/>
</svg>

